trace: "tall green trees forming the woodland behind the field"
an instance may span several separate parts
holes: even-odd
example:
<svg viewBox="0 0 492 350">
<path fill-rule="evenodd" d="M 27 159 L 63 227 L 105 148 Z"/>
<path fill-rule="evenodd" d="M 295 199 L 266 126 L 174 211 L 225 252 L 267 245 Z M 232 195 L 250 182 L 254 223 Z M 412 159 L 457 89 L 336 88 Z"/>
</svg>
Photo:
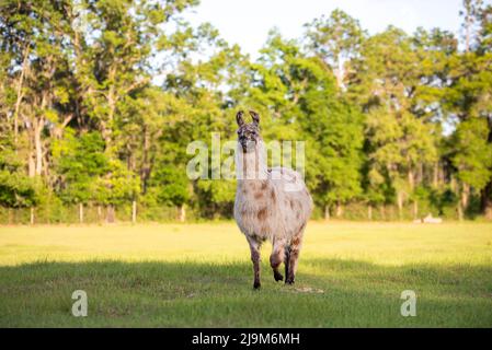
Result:
<svg viewBox="0 0 492 350">
<path fill-rule="evenodd" d="M 458 37 L 335 10 L 255 60 L 197 4 L 1 1 L 1 222 L 230 218 L 234 182 L 188 179 L 186 145 L 234 139 L 240 108 L 306 141 L 317 217 L 492 219 L 491 4 Z"/>
</svg>

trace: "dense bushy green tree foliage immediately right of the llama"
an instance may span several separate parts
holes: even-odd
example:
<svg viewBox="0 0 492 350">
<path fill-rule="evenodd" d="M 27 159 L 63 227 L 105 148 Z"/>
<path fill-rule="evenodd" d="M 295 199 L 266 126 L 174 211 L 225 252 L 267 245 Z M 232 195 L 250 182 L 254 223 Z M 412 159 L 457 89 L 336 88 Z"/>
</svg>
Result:
<svg viewBox="0 0 492 350">
<path fill-rule="evenodd" d="M 309 148 L 307 178 L 321 205 L 346 202 L 361 195 L 363 117 L 336 97 L 329 71 L 304 94 L 300 125 Z M 320 85 L 322 89 L 320 89 Z"/>
</svg>

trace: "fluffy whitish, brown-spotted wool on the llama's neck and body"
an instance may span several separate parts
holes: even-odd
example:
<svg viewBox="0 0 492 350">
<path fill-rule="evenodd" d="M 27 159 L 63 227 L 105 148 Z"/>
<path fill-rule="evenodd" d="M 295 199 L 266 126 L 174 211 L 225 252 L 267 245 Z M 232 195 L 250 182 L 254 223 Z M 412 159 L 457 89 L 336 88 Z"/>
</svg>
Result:
<svg viewBox="0 0 492 350">
<path fill-rule="evenodd" d="M 286 167 L 268 170 L 263 141 L 248 153 L 238 143 L 236 165 L 234 219 L 241 232 L 260 242 L 300 241 L 312 211 L 312 199 L 300 174 Z"/>
</svg>

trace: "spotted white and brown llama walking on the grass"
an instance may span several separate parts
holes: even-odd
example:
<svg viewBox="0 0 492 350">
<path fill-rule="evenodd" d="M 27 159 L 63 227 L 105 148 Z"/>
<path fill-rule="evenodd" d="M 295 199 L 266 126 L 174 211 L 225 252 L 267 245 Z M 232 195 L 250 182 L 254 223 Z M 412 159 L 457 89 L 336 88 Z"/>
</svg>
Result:
<svg viewBox="0 0 492 350">
<path fill-rule="evenodd" d="M 260 247 L 266 240 L 273 245 L 270 265 L 275 281 L 284 279 L 278 271 L 284 262 L 285 283 L 293 284 L 312 199 L 299 173 L 286 167 L 267 168 L 260 116 L 253 110 L 250 115 L 250 124 L 244 122 L 242 110 L 236 116 L 239 129 L 234 219 L 250 245 L 253 288 L 261 285 Z"/>
</svg>

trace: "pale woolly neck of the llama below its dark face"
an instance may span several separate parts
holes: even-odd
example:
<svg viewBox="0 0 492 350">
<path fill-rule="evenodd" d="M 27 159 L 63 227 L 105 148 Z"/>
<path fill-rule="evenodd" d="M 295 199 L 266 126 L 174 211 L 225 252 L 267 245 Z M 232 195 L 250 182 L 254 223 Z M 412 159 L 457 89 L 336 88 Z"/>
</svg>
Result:
<svg viewBox="0 0 492 350">
<path fill-rule="evenodd" d="M 236 151 L 236 175 L 238 184 L 263 182 L 267 178 L 266 150 L 263 141 L 256 143 L 254 152 L 244 153 L 238 143 Z"/>
</svg>

